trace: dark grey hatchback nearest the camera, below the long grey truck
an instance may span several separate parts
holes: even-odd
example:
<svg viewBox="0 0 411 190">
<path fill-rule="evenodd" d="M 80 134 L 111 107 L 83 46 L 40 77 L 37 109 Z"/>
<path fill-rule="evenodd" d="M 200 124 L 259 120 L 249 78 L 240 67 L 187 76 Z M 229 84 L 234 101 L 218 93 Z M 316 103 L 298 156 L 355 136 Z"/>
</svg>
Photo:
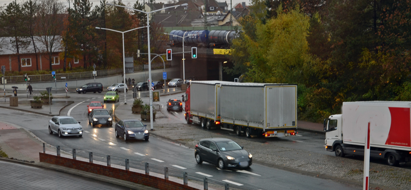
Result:
<svg viewBox="0 0 411 190">
<path fill-rule="evenodd" d="M 253 156 L 242 146 L 226 138 L 201 139 L 196 145 L 196 162 L 216 164 L 218 168 L 248 168 L 253 163 Z"/>
</svg>

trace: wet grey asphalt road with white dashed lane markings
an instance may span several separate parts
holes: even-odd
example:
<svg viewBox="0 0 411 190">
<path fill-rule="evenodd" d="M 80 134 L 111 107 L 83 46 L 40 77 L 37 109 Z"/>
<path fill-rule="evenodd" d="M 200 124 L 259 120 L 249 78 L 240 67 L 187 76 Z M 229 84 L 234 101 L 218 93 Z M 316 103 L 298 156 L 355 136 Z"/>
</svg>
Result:
<svg viewBox="0 0 411 190">
<path fill-rule="evenodd" d="M 247 170 L 219 170 L 215 165 L 203 163 L 197 164 L 194 159 L 194 150 L 190 147 L 180 146 L 161 138 L 150 137 L 150 141 L 130 141 L 124 142 L 122 138 L 116 138 L 113 127 L 91 127 L 87 119 L 87 106 L 90 101 L 102 101 L 104 92 L 77 94 L 70 93 L 70 100 L 74 101 L 65 108 L 61 115 L 74 117 L 81 122 L 84 128 L 82 138 L 67 137 L 59 138 L 57 135 L 49 135 L 47 123 L 50 117 L 36 115 L 15 110 L 0 110 L 2 118 L 8 118 L 7 121 L 15 125 L 22 126 L 34 135 L 51 145 L 59 145 L 63 150 L 68 152 L 71 148 L 78 149 L 77 155 L 88 157 L 88 153 L 80 150 L 92 151 L 95 160 L 105 161 L 105 155 L 111 156 L 112 164 L 124 165 L 124 158 L 130 159 L 130 167 L 144 169 L 144 163 L 150 163 L 151 172 L 163 173 L 164 166 L 169 167 L 169 175 L 181 177 L 182 172 L 189 174 L 189 179 L 202 180 L 208 177 L 210 183 L 229 183 L 231 187 L 238 189 L 360 189 L 358 186 L 334 182 L 306 175 L 287 172 L 285 170 L 267 167 L 254 163 Z M 124 100 L 123 92 L 120 92 L 119 103 L 104 103 L 106 109 L 114 108 Z M 140 96 L 148 96 L 147 91 L 140 92 Z M 129 91 L 127 97 L 132 97 Z M 181 98 L 181 94 L 174 94 L 161 99 L 161 104 L 169 98 Z M 131 100 L 131 98 L 129 98 Z M 132 101 L 127 100 L 131 103 Z M 103 101 L 102 101 L 103 102 Z M 160 105 L 161 107 L 161 105 Z M 184 121 L 182 112 L 167 112 L 165 107 L 160 108 L 164 113 L 164 118 L 156 119 L 156 123 L 165 123 L 171 125 L 188 125 Z M 125 118 L 122 118 L 125 119 Z M 148 122 L 149 123 L 149 122 Z M 199 127 L 199 126 L 190 126 Z M 245 137 L 236 137 L 230 135 L 224 130 L 203 130 L 204 137 L 213 136 L 214 134 L 227 134 L 228 138 L 236 139 Z M 183 133 L 183 131 L 182 131 Z M 310 149 L 314 153 L 330 154 L 319 146 L 323 144 L 324 137 L 319 134 L 300 133 L 301 135 L 290 138 L 253 138 L 249 141 L 259 142 L 261 144 L 275 143 L 282 149 Z M 240 143 L 241 144 L 241 143 Z M 295 144 L 298 144 L 296 146 Z"/>
</svg>

